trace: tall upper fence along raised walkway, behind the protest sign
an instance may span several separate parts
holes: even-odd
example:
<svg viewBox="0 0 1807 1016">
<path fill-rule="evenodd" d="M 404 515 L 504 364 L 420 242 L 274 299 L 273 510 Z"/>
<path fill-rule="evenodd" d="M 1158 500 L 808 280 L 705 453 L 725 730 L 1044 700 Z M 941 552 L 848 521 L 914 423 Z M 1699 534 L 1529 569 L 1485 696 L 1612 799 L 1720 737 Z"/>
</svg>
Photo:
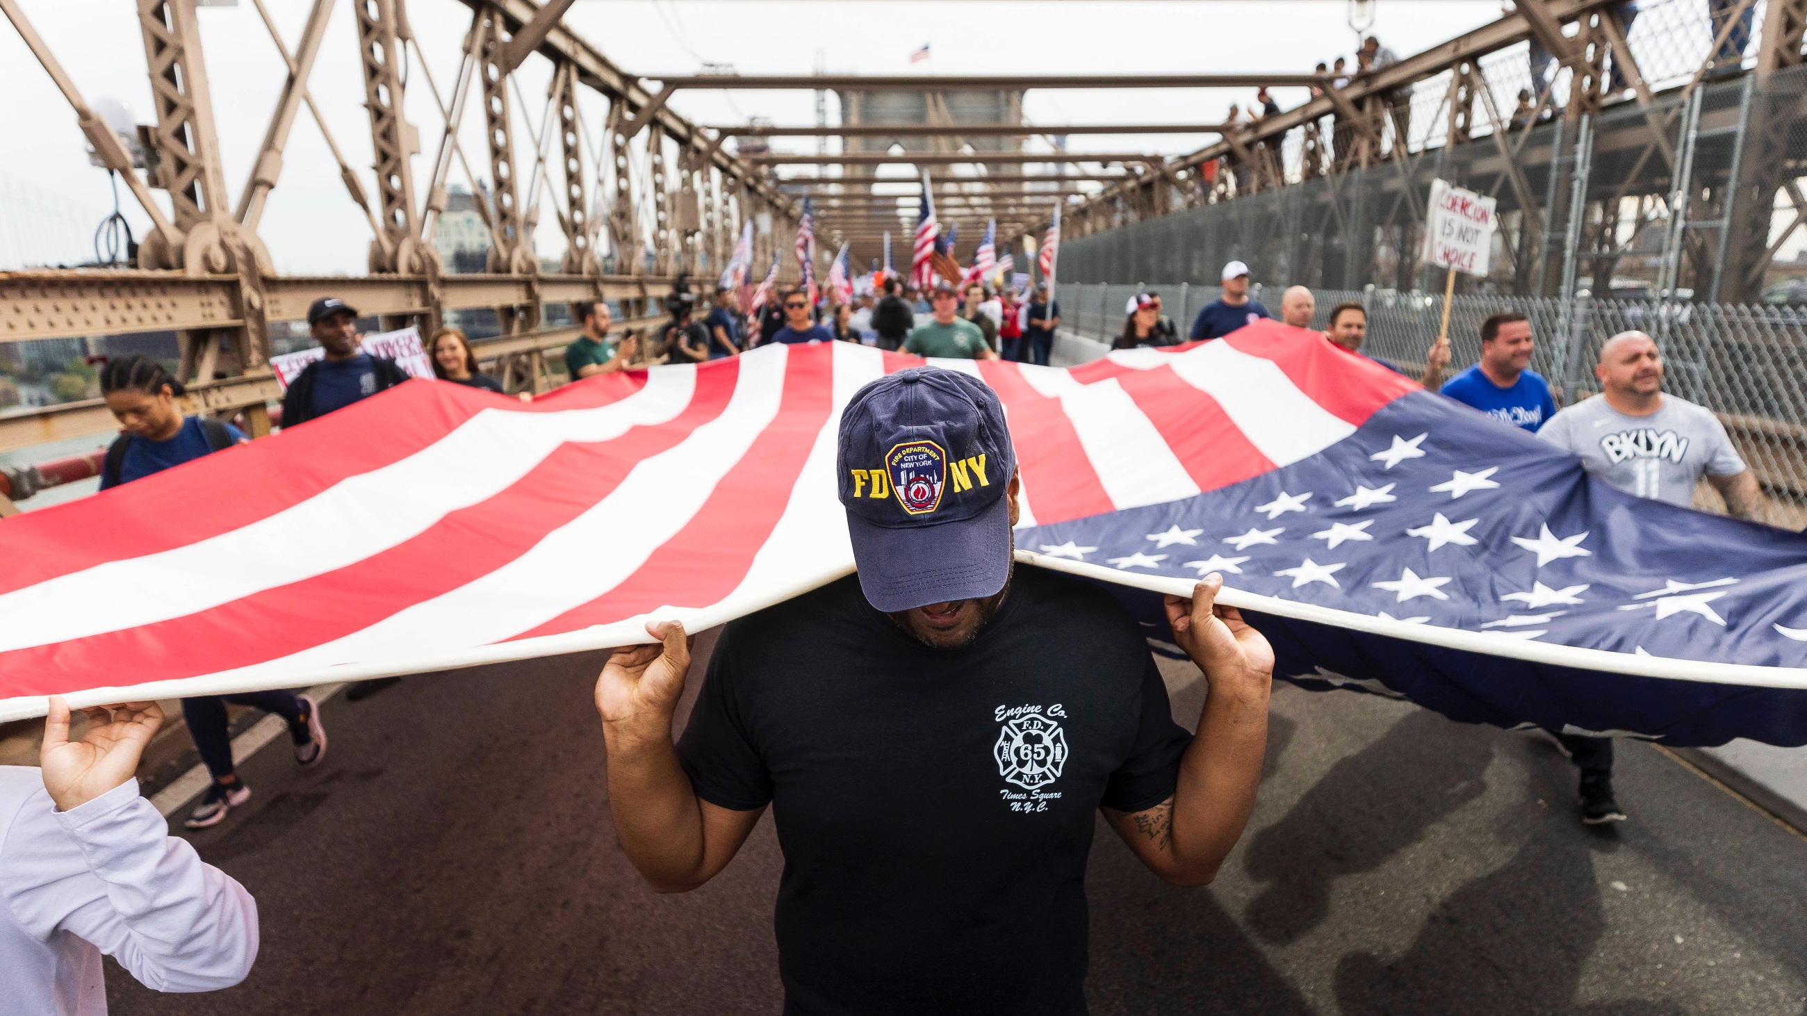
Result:
<svg viewBox="0 0 1807 1016">
<path fill-rule="evenodd" d="M 1807 304 L 1807 266 L 1782 260 L 1796 253 L 1798 237 L 1785 240 L 1798 221 L 1778 213 L 1765 230 L 1762 204 L 1796 193 L 1807 67 L 1764 81 L 1742 74 L 1760 49 L 1765 7 L 1653 0 L 1606 9 L 1628 29 L 1637 67 L 1608 60 L 1612 87 L 1585 118 L 1565 116 L 1572 69 L 1516 43 L 1475 61 L 1476 87 L 1464 92 L 1473 101 L 1456 98 L 1451 72 L 1393 92 L 1373 152 L 1337 116 L 1252 143 L 1247 159 L 1200 166 L 1198 179 L 1216 183 L 1194 186 L 1209 193 L 1175 183 L 1153 201 L 1180 210 L 1147 217 L 1117 199 L 1102 231 L 1063 244 L 1063 280 L 1214 286 L 1225 262 L 1243 260 L 1270 284 L 1437 291 L 1442 277 L 1426 271 L 1418 248 L 1431 183 L 1447 179 L 1498 201 L 1491 273 L 1458 291 Z M 1270 150 L 1283 186 L 1261 168 Z M 1576 193 L 1579 213 L 1570 212 Z"/>
</svg>

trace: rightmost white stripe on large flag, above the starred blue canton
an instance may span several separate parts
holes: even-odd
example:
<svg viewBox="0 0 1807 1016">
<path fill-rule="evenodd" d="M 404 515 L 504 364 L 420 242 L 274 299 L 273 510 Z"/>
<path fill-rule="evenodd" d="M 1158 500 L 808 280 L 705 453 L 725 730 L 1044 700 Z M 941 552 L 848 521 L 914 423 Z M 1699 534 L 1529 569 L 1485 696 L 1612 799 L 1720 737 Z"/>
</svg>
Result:
<svg viewBox="0 0 1807 1016">
<path fill-rule="evenodd" d="M 1299 390 L 1278 363 L 1227 342 L 1156 356 L 1185 383 L 1218 400 L 1231 423 L 1276 466 L 1315 456 L 1355 432 L 1353 423 Z"/>
</svg>

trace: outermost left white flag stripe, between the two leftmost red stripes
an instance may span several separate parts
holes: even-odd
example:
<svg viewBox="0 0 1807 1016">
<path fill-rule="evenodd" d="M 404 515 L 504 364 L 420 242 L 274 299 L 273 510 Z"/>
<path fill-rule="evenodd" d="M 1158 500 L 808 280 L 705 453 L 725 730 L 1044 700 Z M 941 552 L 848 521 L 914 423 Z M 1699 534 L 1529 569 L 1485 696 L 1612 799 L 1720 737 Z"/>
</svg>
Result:
<svg viewBox="0 0 1807 1016">
<path fill-rule="evenodd" d="M 558 445 L 670 421 L 694 392 L 696 367 L 683 365 L 651 371 L 638 392 L 596 409 L 486 409 L 401 461 L 248 526 L 0 595 L 0 653 L 188 616 L 356 564 L 488 501 Z"/>
</svg>

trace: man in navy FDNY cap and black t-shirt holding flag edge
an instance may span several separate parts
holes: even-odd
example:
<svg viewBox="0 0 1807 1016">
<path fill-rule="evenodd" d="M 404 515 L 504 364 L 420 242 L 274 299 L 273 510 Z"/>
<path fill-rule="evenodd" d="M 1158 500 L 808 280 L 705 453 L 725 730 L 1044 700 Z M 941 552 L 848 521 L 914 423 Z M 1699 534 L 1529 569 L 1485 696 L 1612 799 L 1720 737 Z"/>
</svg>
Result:
<svg viewBox="0 0 1807 1016">
<path fill-rule="evenodd" d="M 1272 649 L 1214 607 L 1220 575 L 1167 597 L 1211 683 L 1180 729 L 1109 593 L 1014 571 L 1010 434 L 963 372 L 855 392 L 837 474 L 858 573 L 728 624 L 676 745 L 683 627 L 604 669 L 622 850 L 688 891 L 772 804 L 786 1012 L 1082 1014 L 1093 812 L 1167 882 L 1211 882 L 1261 779 Z"/>
</svg>

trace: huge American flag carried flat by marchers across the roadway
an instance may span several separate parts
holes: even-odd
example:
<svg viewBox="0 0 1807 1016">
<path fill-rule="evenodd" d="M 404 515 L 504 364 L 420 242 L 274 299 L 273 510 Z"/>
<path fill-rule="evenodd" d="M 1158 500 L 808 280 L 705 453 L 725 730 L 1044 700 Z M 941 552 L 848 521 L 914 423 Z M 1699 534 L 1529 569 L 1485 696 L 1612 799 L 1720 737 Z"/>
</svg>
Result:
<svg viewBox="0 0 1807 1016">
<path fill-rule="evenodd" d="M 853 568 L 837 423 L 922 360 L 773 345 L 531 403 L 407 381 L 0 522 L 0 721 L 645 642 Z M 1668 743 L 1807 741 L 1807 537 L 1639 501 L 1579 459 L 1258 322 L 1001 398 L 1019 560 L 1223 600 L 1312 689 Z M 195 512 L 206 504 L 206 512 Z"/>
</svg>

